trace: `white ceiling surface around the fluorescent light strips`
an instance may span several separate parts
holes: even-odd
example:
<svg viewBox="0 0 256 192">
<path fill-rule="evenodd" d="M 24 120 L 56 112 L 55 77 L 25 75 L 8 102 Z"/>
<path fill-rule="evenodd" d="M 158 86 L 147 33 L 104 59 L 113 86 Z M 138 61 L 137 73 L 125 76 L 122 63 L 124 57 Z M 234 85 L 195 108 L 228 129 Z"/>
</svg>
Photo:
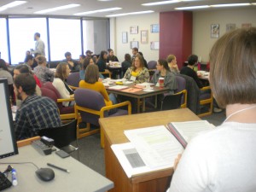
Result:
<svg viewBox="0 0 256 192">
<path fill-rule="evenodd" d="M 123 14 L 137 11 L 145 11 L 145 10 L 154 10 L 154 12 L 166 12 L 173 11 L 174 8 L 177 7 L 189 7 L 189 6 L 197 6 L 197 5 L 212 5 L 212 4 L 220 4 L 220 3 L 256 3 L 256 0 L 198 0 L 195 2 L 180 2 L 180 3 L 172 3 L 166 5 L 158 5 L 158 6 L 142 6 L 142 3 L 152 3 L 156 1 L 162 0 L 112 0 L 110 2 L 100 2 L 98 0 L 26 0 L 27 3 L 17 6 L 12 9 L 7 9 L 0 12 L 0 15 L 35 15 L 34 12 L 42 10 L 42 9 L 51 9 L 63 5 L 67 5 L 69 3 L 78 3 L 81 6 L 73 8 L 73 9 L 65 9 L 59 10 L 52 13 L 48 13 L 47 15 L 69 15 L 73 16 L 75 13 L 91 11 L 96 9 L 108 9 L 113 7 L 120 7 L 122 9 L 112 11 L 112 12 L 104 12 L 97 13 L 93 15 L 84 15 L 89 17 L 105 17 L 106 15 L 113 14 Z M 1 0 L 0 6 L 4 4 L 11 3 L 13 0 Z M 251 9 L 256 9 L 256 5 L 250 6 Z M 224 9 L 224 8 L 210 8 L 212 10 L 215 9 Z M 208 9 L 209 10 L 209 9 Z"/>
</svg>

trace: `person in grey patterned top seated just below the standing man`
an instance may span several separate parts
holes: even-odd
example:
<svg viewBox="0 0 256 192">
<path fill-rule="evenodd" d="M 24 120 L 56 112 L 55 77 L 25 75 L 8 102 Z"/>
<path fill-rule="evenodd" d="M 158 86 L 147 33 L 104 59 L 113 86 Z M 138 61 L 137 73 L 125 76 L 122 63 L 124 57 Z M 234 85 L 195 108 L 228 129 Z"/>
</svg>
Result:
<svg viewBox="0 0 256 192">
<path fill-rule="evenodd" d="M 34 74 L 43 82 L 43 84 L 47 81 L 53 82 L 55 73 L 46 67 L 46 58 L 44 56 L 38 56 L 37 60 L 38 67 L 34 68 Z"/>
</svg>

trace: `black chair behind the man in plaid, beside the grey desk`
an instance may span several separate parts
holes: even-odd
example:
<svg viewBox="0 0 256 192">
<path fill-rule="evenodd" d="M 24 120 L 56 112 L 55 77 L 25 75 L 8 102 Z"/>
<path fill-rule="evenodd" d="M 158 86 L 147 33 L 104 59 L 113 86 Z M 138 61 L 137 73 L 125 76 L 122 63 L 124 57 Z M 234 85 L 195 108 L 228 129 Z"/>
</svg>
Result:
<svg viewBox="0 0 256 192">
<path fill-rule="evenodd" d="M 79 149 L 79 143 L 77 140 L 77 119 L 73 119 L 69 123 L 59 127 L 42 129 L 38 132 L 38 135 L 41 137 L 46 136 L 54 139 L 55 147 L 61 148 L 68 154 Z M 74 141 L 76 142 L 77 148 L 70 144 Z"/>
</svg>

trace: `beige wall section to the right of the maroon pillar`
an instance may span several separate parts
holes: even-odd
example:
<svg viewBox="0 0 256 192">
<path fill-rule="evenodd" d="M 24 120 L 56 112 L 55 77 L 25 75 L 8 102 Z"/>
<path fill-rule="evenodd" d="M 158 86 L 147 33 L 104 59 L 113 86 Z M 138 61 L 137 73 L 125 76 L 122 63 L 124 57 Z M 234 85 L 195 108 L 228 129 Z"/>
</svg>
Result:
<svg viewBox="0 0 256 192">
<path fill-rule="evenodd" d="M 211 24 L 219 24 L 219 37 L 226 32 L 226 24 L 235 23 L 241 28 L 242 23 L 256 26 L 256 7 L 243 9 L 218 9 L 197 11 L 193 13 L 193 44 L 194 54 L 201 56 L 202 61 L 209 60 L 209 52 L 218 38 L 211 38 Z"/>
</svg>

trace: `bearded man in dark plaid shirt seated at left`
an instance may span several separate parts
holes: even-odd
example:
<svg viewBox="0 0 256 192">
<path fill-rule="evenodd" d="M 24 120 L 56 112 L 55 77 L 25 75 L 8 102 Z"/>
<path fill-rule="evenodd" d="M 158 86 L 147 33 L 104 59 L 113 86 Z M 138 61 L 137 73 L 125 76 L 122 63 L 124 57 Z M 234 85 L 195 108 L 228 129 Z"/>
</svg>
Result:
<svg viewBox="0 0 256 192">
<path fill-rule="evenodd" d="M 38 136 L 38 131 L 43 128 L 61 126 L 55 102 L 35 95 L 36 85 L 31 74 L 20 74 L 15 78 L 15 95 L 22 101 L 15 117 L 17 140 Z"/>
</svg>

